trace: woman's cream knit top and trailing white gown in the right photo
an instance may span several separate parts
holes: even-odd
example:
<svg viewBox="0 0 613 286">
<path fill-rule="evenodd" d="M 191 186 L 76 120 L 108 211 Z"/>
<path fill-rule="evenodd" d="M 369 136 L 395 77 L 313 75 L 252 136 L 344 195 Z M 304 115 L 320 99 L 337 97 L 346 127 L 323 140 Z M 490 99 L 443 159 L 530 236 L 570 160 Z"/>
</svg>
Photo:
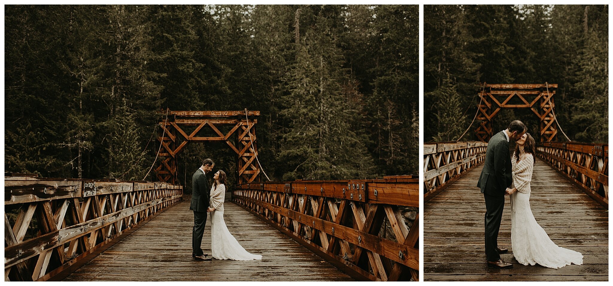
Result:
<svg viewBox="0 0 613 286">
<path fill-rule="evenodd" d="M 524 156 L 526 158 L 519 163 L 516 163 L 516 155 L 511 158 L 513 184 L 517 188 L 511 194 L 511 247 L 515 259 L 523 265 L 538 263 L 549 268 L 561 268 L 571 263 L 581 265 L 583 255 L 555 245 L 532 215 L 530 181 L 534 157 L 530 153 Z"/>
</svg>

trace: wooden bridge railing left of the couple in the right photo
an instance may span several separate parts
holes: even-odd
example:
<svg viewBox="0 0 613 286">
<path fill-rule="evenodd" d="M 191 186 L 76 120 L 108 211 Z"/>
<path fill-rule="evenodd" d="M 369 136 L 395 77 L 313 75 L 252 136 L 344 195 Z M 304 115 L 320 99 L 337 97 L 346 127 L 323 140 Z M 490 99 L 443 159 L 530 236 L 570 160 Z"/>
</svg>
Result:
<svg viewBox="0 0 613 286">
<path fill-rule="evenodd" d="M 485 149 L 487 143 L 481 141 L 424 144 L 424 201 L 481 163 Z"/>
</svg>

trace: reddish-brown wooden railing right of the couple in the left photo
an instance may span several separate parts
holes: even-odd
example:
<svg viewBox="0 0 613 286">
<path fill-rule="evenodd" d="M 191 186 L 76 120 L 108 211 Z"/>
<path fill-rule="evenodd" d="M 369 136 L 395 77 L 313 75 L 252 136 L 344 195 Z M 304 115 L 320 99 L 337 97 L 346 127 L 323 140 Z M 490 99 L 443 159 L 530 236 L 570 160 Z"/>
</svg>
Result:
<svg viewBox="0 0 613 286">
<path fill-rule="evenodd" d="M 418 281 L 419 217 L 403 212 L 419 207 L 419 179 L 384 178 L 241 184 L 232 199 L 356 279 Z"/>
</svg>

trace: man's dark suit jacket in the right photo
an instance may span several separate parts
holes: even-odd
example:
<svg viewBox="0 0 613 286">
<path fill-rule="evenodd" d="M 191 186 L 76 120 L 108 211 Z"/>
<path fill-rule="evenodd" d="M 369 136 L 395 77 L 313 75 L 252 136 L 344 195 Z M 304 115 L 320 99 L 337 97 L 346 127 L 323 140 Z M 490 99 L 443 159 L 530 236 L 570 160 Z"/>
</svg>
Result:
<svg viewBox="0 0 613 286">
<path fill-rule="evenodd" d="M 492 136 L 485 150 L 485 164 L 479 176 L 477 187 L 481 193 L 491 196 L 504 196 L 504 191 L 511 186 L 511 152 L 504 131 Z"/>
</svg>

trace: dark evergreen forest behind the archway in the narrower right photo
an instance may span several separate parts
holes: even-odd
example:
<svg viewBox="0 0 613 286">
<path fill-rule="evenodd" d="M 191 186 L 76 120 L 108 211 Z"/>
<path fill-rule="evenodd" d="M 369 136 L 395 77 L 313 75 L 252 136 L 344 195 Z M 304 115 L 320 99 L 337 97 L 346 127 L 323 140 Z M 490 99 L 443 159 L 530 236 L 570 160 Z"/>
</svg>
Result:
<svg viewBox="0 0 613 286">
<path fill-rule="evenodd" d="M 555 115 L 569 139 L 606 143 L 608 9 L 424 5 L 424 142 L 457 141 L 473 120 L 484 82 L 548 82 L 558 84 Z M 503 110 L 494 131 L 516 118 L 538 133 L 529 110 Z M 476 126 L 462 141 L 476 139 Z"/>
</svg>

